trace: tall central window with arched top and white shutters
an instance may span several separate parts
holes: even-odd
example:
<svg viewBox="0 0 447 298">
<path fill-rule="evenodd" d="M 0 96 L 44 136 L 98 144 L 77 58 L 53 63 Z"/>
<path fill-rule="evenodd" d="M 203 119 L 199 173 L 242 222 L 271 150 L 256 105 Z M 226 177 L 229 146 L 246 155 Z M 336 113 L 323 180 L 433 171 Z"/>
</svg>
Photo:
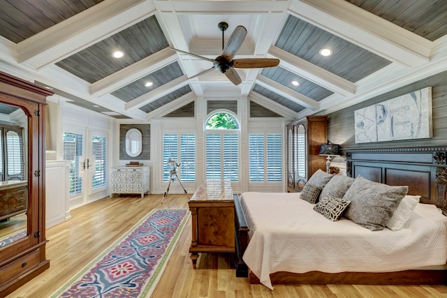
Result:
<svg viewBox="0 0 447 298">
<path fill-rule="evenodd" d="M 228 112 L 217 112 L 205 124 L 207 179 L 239 181 L 239 123 Z"/>
</svg>

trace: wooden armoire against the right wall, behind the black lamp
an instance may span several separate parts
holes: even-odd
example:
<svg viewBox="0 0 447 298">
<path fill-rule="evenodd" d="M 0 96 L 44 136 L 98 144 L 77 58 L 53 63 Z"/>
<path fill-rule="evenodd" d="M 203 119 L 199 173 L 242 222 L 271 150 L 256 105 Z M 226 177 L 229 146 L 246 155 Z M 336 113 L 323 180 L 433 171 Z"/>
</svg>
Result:
<svg viewBox="0 0 447 298">
<path fill-rule="evenodd" d="M 301 191 L 316 170 L 325 170 L 320 146 L 328 142 L 328 117 L 306 116 L 287 124 L 287 191 Z"/>
</svg>

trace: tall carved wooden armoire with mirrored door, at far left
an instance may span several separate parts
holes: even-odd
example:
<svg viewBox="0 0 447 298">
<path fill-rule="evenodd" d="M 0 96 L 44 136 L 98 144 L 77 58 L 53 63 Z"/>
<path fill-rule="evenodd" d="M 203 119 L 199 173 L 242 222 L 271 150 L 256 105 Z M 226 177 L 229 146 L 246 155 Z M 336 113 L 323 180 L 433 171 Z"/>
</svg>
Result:
<svg viewBox="0 0 447 298">
<path fill-rule="evenodd" d="M 14 179 L 3 174 L 0 181 L 0 297 L 50 267 L 45 258 L 45 107 L 52 94 L 0 72 L 0 122 L 22 128 L 22 135 L 6 137 L 0 146 L 6 170 L 22 173 Z"/>
</svg>

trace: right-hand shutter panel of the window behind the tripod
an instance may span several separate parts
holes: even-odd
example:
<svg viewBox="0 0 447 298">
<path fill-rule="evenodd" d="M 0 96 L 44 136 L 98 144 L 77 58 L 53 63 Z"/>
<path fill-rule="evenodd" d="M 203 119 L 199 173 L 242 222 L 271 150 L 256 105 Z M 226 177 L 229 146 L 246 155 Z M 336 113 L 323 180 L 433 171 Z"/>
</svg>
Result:
<svg viewBox="0 0 447 298">
<path fill-rule="evenodd" d="M 182 181 L 196 181 L 196 135 L 180 135 L 180 158 Z"/>
</svg>

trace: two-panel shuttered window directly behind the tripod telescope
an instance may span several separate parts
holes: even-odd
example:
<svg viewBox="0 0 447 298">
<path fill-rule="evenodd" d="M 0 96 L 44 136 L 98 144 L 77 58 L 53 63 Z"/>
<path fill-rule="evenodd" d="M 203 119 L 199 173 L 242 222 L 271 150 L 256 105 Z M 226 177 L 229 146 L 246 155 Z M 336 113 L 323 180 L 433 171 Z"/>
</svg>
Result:
<svg viewBox="0 0 447 298">
<path fill-rule="evenodd" d="M 169 158 L 180 163 L 177 174 L 182 182 L 196 181 L 196 135 L 163 135 L 163 181 L 169 181 L 172 170 Z"/>
</svg>

